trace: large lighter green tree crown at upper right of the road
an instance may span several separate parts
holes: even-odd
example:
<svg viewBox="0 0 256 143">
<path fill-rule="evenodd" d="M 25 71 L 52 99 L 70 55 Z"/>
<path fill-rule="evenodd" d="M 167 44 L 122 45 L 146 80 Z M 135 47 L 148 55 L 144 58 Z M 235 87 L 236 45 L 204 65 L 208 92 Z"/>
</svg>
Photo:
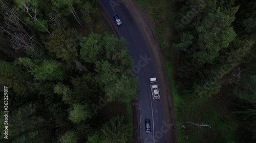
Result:
<svg viewBox="0 0 256 143">
<path fill-rule="evenodd" d="M 214 14 L 209 14 L 197 27 L 199 35 L 199 51 L 193 53 L 193 58 L 199 64 L 211 63 L 219 55 L 219 50 L 227 48 L 236 37 L 233 28 L 230 27 L 234 16 L 228 16 L 218 9 Z"/>
</svg>

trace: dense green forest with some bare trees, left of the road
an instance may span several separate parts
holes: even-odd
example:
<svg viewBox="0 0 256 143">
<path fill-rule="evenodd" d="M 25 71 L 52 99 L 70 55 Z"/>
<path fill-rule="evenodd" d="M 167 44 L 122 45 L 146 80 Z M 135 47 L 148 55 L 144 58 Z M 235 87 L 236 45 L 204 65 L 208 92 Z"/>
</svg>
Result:
<svg viewBox="0 0 256 143">
<path fill-rule="evenodd" d="M 8 87 L 9 99 L 0 142 L 131 141 L 134 62 L 97 3 L 0 0 L 0 92 Z"/>
</svg>

